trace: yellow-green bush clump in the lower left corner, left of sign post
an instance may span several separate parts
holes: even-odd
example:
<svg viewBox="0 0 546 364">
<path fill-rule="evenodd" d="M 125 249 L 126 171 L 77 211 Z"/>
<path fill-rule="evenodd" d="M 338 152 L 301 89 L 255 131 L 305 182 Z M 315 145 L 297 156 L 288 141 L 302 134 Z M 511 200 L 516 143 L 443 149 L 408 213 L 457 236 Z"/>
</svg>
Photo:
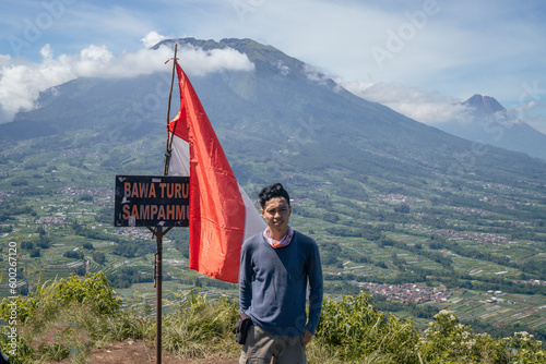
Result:
<svg viewBox="0 0 546 364">
<path fill-rule="evenodd" d="M 0 350 L 10 356 L 10 363 L 36 363 L 61 360 L 69 352 L 78 357 L 88 355 L 91 347 L 81 337 L 94 342 L 142 337 L 144 329 L 133 329 L 141 323 L 122 314 L 120 303 L 103 272 L 48 281 L 31 296 L 3 299 L 0 319 L 9 326 L 1 331 L 16 328 L 17 335 L 16 342 L 11 342 L 8 335 L 0 335 Z M 55 337 L 56 342 L 33 347 L 44 336 Z"/>
</svg>

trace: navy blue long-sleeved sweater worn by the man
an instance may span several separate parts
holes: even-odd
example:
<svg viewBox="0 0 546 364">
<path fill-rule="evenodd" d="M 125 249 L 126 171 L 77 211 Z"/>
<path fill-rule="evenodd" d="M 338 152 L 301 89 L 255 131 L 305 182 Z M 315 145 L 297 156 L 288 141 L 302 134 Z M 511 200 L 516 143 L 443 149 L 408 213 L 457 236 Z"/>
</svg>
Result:
<svg viewBox="0 0 546 364">
<path fill-rule="evenodd" d="M 309 320 L 306 317 L 309 279 Z M 294 231 L 287 246 L 273 248 L 262 233 L 241 247 L 239 305 L 254 325 L 275 335 L 314 333 L 322 308 L 322 267 L 319 247 Z"/>
</svg>

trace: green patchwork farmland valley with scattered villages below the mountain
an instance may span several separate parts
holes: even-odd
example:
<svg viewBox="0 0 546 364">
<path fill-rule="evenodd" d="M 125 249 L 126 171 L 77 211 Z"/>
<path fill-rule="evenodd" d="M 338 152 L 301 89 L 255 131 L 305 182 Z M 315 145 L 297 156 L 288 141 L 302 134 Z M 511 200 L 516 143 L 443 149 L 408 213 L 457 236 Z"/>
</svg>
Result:
<svg viewBox="0 0 546 364">
<path fill-rule="evenodd" d="M 79 135 L 61 139 L 85 144 Z M 0 246 L 5 260 L 9 243 L 17 244 L 20 292 L 48 279 L 103 270 L 128 304 L 152 314 L 155 240 L 145 228 L 112 226 L 116 169 L 147 172 L 134 168 L 146 151 L 108 170 L 105 163 L 117 151 L 100 156 L 100 144 L 80 154 L 33 151 L 41 142 L 19 142 L 1 151 Z M 161 141 L 146 143 L 156 144 L 152 158 L 159 171 Z M 351 198 L 349 179 L 336 183 L 329 174 L 292 173 L 283 183 L 294 196 L 293 227 L 319 243 L 329 295 L 368 290 L 379 307 L 420 328 L 449 308 L 489 331 L 505 333 L 507 327 L 539 336 L 546 329 L 544 186 L 466 182 L 437 187 L 427 198 L 420 189 L 375 178 L 361 183 L 359 198 Z M 258 189 L 246 185 L 252 198 Z M 235 284 L 188 269 L 187 239 L 185 228 L 166 236 L 165 291 L 197 287 L 236 298 Z M 2 296 L 10 295 L 7 274 Z M 432 290 L 441 298 L 431 298 Z"/>
</svg>

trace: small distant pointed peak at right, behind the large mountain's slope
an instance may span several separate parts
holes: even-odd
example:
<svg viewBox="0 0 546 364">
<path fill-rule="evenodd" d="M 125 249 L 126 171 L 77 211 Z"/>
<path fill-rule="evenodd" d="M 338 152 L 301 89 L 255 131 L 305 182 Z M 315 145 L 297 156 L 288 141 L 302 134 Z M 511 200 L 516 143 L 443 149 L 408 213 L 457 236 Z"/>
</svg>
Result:
<svg viewBox="0 0 546 364">
<path fill-rule="evenodd" d="M 438 128 L 465 139 L 546 159 L 546 135 L 512 116 L 495 98 L 476 94 L 462 105 L 470 110 L 466 120 Z"/>
</svg>

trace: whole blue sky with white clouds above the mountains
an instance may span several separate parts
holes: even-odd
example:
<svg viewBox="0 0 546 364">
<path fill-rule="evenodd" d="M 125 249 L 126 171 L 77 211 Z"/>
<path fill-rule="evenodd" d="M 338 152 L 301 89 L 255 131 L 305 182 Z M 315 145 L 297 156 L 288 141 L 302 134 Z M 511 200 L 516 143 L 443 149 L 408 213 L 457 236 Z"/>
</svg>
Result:
<svg viewBox="0 0 546 364">
<path fill-rule="evenodd" d="M 146 61 L 145 46 L 191 36 L 271 45 L 429 124 L 477 93 L 546 132 L 539 0 L 11 0 L 1 7 L 3 122 L 68 78 L 112 76 L 135 58 L 142 71 L 134 72 L 150 72 L 144 64 L 159 61 Z"/>
</svg>

